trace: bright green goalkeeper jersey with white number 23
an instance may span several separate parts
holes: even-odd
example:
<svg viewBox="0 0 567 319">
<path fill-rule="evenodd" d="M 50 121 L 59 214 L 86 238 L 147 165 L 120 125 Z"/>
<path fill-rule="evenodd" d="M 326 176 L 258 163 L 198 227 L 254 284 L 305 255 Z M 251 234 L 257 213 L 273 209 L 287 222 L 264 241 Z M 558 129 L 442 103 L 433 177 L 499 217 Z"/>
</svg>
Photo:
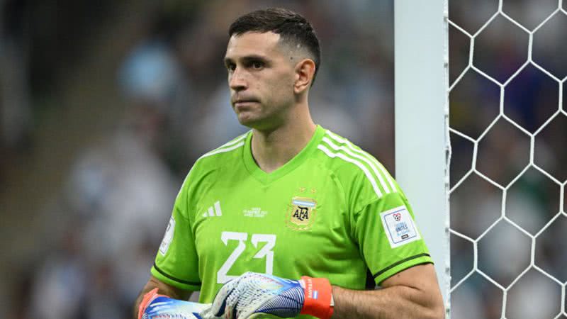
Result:
<svg viewBox="0 0 567 319">
<path fill-rule="evenodd" d="M 367 152 L 318 126 L 268 174 L 251 140 L 252 131 L 193 165 L 152 267 L 157 279 L 210 303 L 248 271 L 365 289 L 432 262 L 408 199 Z"/>
</svg>

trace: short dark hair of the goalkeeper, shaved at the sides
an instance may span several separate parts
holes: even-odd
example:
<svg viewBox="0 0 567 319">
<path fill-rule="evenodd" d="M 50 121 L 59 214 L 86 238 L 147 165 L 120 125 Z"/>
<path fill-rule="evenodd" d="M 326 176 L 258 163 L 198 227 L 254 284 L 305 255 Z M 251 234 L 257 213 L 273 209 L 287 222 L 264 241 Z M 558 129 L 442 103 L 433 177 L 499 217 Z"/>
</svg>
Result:
<svg viewBox="0 0 567 319">
<path fill-rule="evenodd" d="M 240 16 L 230 25 L 228 36 L 247 32 L 273 32 L 279 34 L 283 41 L 307 48 L 315 62 L 315 74 L 313 74 L 313 82 L 315 82 L 315 75 L 321 64 L 321 48 L 313 26 L 301 14 L 282 8 L 252 11 Z"/>
</svg>

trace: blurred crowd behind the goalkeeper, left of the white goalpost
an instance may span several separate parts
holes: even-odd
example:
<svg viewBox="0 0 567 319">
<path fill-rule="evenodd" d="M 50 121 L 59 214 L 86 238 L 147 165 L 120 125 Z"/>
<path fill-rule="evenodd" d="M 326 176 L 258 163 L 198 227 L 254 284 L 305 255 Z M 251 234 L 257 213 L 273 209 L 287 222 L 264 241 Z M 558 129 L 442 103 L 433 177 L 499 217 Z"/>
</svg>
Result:
<svg viewBox="0 0 567 319">
<path fill-rule="evenodd" d="M 23 11 L 25 17 L 31 10 L 16 5 L 18 1 L 9 2 L 4 16 Z M 135 2 L 128 9 L 145 10 L 146 18 L 111 79 L 125 104 L 123 116 L 100 138 L 77 150 L 60 189 L 38 213 L 51 216 L 42 227 L 52 231 L 36 235 L 35 240 L 45 243 L 38 245 L 43 249 L 33 251 L 27 267 L 17 269 L 21 279 L 11 291 L 11 306 L 1 309 L 7 318 L 128 318 L 191 165 L 204 152 L 247 130 L 230 107 L 222 62 L 228 26 L 242 13 L 285 6 L 309 18 L 323 52 L 310 94 L 313 118 L 357 141 L 393 169 L 391 2 Z M 89 6 L 70 8 L 84 13 Z M 113 14 L 112 6 L 101 7 L 92 14 Z M 72 15 L 62 14 L 65 17 Z M 102 18 L 90 20 L 103 24 Z M 84 28 L 79 24 L 77 28 Z M 120 22 L 114 28 L 119 26 Z M 98 50 L 91 47 L 86 52 L 96 55 Z M 29 108 L 31 113 L 40 112 L 34 105 Z M 33 139 L 33 125 L 28 130 Z M 4 150 L 18 152 L 18 147 L 6 143 Z"/>
</svg>

